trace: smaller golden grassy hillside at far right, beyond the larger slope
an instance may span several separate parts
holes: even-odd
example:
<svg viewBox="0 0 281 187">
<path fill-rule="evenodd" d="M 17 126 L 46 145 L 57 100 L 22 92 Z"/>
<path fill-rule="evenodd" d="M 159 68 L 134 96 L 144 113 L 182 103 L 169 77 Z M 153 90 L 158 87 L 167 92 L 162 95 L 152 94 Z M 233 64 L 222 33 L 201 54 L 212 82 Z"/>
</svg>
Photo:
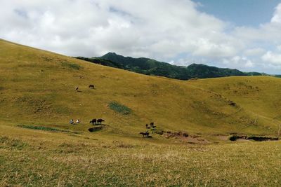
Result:
<svg viewBox="0 0 281 187">
<path fill-rule="evenodd" d="M 208 78 L 190 81 L 199 88 L 217 92 L 256 116 L 256 121 L 268 120 L 278 127 L 281 109 L 281 80 L 270 76 Z M 268 123 L 269 123 L 268 122 Z"/>
</svg>

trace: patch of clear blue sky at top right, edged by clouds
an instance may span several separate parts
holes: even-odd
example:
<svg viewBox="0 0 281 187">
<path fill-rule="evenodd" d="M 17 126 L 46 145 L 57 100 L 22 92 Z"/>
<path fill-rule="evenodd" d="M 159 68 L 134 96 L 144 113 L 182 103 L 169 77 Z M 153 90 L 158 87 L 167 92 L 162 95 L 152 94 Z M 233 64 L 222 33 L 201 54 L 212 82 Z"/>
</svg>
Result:
<svg viewBox="0 0 281 187">
<path fill-rule="evenodd" d="M 237 26 L 258 27 L 270 22 L 280 0 L 196 0 L 198 10 Z"/>
</svg>

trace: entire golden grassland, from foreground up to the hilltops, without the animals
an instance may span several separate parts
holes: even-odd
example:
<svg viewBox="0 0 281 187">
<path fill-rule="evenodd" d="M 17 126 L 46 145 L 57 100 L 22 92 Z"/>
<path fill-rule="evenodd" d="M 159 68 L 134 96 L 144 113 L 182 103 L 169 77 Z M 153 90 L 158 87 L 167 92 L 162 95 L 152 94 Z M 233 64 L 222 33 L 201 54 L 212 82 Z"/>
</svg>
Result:
<svg viewBox="0 0 281 187">
<path fill-rule="evenodd" d="M 0 186 L 281 182 L 280 141 L 228 140 L 278 136 L 280 78 L 178 81 L 3 40 L 0 51 Z M 93 118 L 105 123 L 89 132 Z M 141 137 L 152 121 L 164 134 Z"/>
</svg>

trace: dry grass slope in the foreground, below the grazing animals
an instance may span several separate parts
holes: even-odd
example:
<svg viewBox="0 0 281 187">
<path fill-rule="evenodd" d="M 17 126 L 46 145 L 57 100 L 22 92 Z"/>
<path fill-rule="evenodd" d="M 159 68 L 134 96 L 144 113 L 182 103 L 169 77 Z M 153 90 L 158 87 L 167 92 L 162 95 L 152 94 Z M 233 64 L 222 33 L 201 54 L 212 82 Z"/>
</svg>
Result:
<svg viewBox="0 0 281 187">
<path fill-rule="evenodd" d="M 0 125 L 0 186 L 280 186 L 281 144 L 155 144 Z"/>
</svg>

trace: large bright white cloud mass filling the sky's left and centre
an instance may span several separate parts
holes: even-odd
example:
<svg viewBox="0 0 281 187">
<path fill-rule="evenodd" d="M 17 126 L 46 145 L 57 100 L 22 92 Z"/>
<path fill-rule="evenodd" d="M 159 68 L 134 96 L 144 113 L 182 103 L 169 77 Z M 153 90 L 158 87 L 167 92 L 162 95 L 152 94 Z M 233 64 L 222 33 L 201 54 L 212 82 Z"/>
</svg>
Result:
<svg viewBox="0 0 281 187">
<path fill-rule="evenodd" d="M 189 0 L 11 0 L 0 8 L 0 36 L 66 55 L 235 54 L 235 40 L 224 34 L 228 25 L 197 6 Z"/>
</svg>

